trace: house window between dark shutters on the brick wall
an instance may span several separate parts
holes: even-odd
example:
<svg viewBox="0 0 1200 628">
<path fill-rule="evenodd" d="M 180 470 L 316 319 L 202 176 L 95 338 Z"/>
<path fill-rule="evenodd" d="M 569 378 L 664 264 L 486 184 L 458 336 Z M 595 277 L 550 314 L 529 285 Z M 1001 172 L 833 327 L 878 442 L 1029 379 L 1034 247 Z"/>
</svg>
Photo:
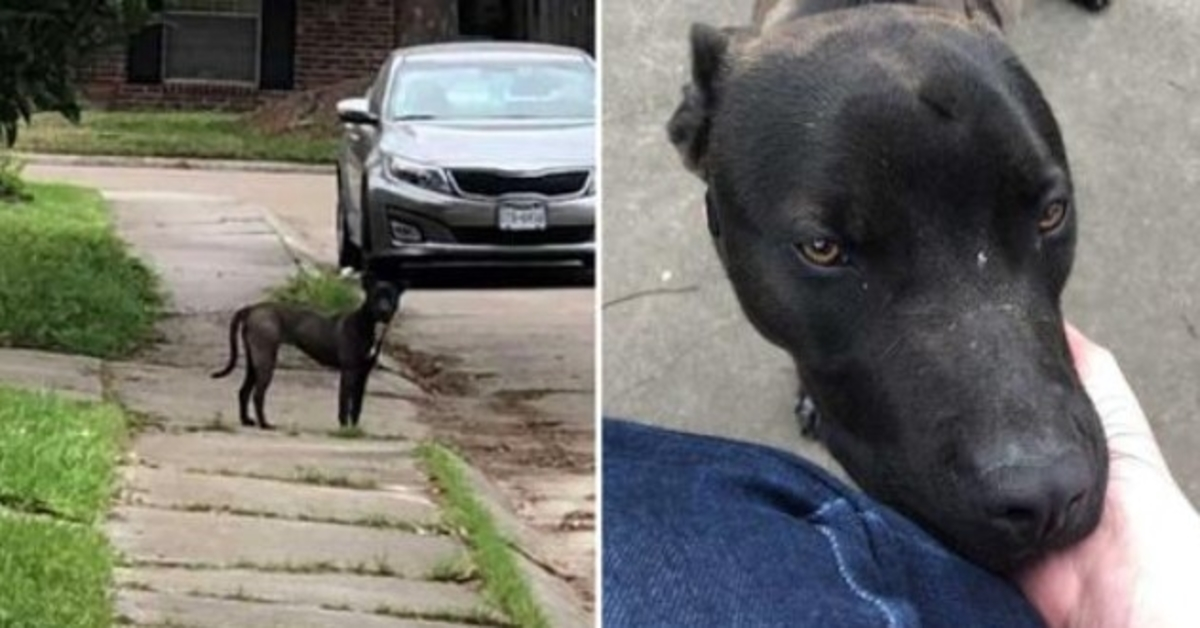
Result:
<svg viewBox="0 0 1200 628">
<path fill-rule="evenodd" d="M 163 78 L 258 83 L 263 0 L 166 0 Z"/>
</svg>

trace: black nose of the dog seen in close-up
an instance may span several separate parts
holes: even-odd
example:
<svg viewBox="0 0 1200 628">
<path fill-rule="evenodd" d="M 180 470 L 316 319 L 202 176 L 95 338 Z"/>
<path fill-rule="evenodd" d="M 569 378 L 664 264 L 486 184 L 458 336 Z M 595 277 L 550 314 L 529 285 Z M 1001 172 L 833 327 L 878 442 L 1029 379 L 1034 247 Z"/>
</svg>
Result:
<svg viewBox="0 0 1200 628">
<path fill-rule="evenodd" d="M 1027 544 L 1043 544 L 1078 527 L 1092 488 L 1084 456 L 1066 456 L 1049 463 L 1020 463 L 989 471 L 984 509 L 1004 536 Z"/>
</svg>

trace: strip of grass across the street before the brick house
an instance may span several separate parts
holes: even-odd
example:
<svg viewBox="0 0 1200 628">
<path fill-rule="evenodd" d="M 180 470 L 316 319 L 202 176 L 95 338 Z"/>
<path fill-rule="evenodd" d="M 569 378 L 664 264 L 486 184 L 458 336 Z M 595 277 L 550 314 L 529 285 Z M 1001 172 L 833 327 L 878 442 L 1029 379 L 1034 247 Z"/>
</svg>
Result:
<svg viewBox="0 0 1200 628">
<path fill-rule="evenodd" d="M 332 163 L 337 138 L 266 134 L 233 113 L 86 110 L 78 126 L 58 114 L 35 115 L 34 124 L 20 130 L 14 148 L 72 155 Z"/>
</svg>

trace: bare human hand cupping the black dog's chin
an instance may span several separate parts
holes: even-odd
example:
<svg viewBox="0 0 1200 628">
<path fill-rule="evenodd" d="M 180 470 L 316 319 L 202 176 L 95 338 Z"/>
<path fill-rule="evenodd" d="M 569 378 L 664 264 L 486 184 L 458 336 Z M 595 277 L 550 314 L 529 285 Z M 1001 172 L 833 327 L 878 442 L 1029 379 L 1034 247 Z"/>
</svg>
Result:
<svg viewBox="0 0 1200 628">
<path fill-rule="evenodd" d="M 1200 626 L 1200 516 L 1180 490 L 1116 359 L 1067 324 L 1104 424 L 1109 483 L 1097 530 L 1021 573 L 1050 628 Z"/>
</svg>

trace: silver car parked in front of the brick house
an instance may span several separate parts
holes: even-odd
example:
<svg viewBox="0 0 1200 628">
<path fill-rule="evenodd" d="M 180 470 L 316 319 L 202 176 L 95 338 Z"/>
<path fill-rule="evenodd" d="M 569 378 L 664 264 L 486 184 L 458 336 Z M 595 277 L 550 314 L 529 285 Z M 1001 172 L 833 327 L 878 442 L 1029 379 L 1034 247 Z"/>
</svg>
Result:
<svg viewBox="0 0 1200 628">
<path fill-rule="evenodd" d="M 595 66 L 574 48 L 443 43 L 391 54 L 337 104 L 342 267 L 594 264 Z"/>
</svg>

